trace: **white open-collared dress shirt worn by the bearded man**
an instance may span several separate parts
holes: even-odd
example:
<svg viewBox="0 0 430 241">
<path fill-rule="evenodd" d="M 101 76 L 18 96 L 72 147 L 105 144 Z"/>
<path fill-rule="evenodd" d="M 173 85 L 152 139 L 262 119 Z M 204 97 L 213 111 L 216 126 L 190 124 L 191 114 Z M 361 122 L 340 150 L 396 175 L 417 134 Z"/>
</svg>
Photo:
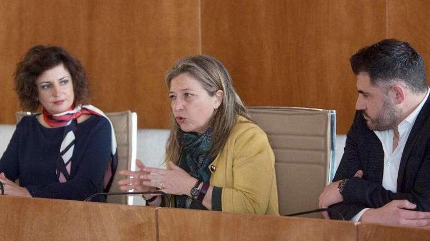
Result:
<svg viewBox="0 0 430 241">
<path fill-rule="evenodd" d="M 384 175 L 382 176 L 382 186 L 386 190 L 397 192 L 397 175 L 399 174 L 400 160 L 402 158 L 403 149 L 405 148 L 406 141 L 408 140 L 410 130 L 412 130 L 413 124 L 420 113 L 421 109 L 426 103 L 429 97 L 429 87 L 427 88 L 426 97 L 421 101 L 418 107 L 412 111 L 402 122 L 400 122 L 397 130 L 399 131 L 399 141 L 397 147 L 393 150 L 393 139 L 394 130 L 374 130 L 376 136 L 381 141 L 382 148 L 384 149 Z M 364 208 L 357 215 L 355 215 L 351 221 L 358 222 L 369 208 Z"/>
</svg>

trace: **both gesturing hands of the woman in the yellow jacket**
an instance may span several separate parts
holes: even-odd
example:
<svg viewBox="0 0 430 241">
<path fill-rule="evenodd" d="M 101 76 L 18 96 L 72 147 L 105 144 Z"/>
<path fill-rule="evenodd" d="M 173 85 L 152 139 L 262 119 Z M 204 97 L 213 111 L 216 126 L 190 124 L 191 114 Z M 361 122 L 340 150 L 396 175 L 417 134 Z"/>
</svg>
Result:
<svg viewBox="0 0 430 241">
<path fill-rule="evenodd" d="M 139 167 L 137 171 L 119 171 L 121 175 L 130 176 L 118 181 L 121 190 L 153 191 L 158 188 L 168 194 L 190 195 L 190 189 L 197 180 L 172 162 L 169 162 L 169 170 L 145 167 L 140 160 L 136 164 Z"/>
</svg>

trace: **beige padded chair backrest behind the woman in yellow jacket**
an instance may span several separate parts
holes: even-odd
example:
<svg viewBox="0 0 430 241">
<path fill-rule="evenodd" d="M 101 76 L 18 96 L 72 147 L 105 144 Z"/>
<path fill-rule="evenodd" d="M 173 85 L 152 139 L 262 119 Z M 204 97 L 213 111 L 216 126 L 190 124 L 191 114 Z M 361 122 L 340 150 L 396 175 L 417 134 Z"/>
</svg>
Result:
<svg viewBox="0 0 430 241">
<path fill-rule="evenodd" d="M 248 107 L 275 153 L 280 215 L 318 208 L 335 161 L 335 111 Z M 322 217 L 316 213 L 308 217 Z"/>
</svg>

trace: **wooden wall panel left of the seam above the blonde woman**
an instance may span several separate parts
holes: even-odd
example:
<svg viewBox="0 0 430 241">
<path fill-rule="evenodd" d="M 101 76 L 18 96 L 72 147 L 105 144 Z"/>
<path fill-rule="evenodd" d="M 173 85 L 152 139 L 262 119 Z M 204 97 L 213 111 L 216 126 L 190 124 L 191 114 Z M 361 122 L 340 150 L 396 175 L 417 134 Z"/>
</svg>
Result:
<svg viewBox="0 0 430 241">
<path fill-rule="evenodd" d="M 0 123 L 15 123 L 12 74 L 35 44 L 64 46 L 89 75 L 92 104 L 136 111 L 140 128 L 168 128 L 164 74 L 199 52 L 197 0 L 2 0 Z"/>
</svg>

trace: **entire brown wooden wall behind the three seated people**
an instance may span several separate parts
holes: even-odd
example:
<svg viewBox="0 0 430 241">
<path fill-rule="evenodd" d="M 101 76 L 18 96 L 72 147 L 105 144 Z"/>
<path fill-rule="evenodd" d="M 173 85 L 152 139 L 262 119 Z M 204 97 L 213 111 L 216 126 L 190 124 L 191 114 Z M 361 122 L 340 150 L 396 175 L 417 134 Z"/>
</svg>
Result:
<svg viewBox="0 0 430 241">
<path fill-rule="evenodd" d="M 2 0 L 0 123 L 15 123 L 19 110 L 19 58 L 58 44 L 86 66 L 92 103 L 136 111 L 140 128 L 168 127 L 164 74 L 201 52 L 226 65 L 247 105 L 335 109 L 346 133 L 357 96 L 349 56 L 395 37 L 430 59 L 429 8 L 425 0 Z"/>
</svg>

